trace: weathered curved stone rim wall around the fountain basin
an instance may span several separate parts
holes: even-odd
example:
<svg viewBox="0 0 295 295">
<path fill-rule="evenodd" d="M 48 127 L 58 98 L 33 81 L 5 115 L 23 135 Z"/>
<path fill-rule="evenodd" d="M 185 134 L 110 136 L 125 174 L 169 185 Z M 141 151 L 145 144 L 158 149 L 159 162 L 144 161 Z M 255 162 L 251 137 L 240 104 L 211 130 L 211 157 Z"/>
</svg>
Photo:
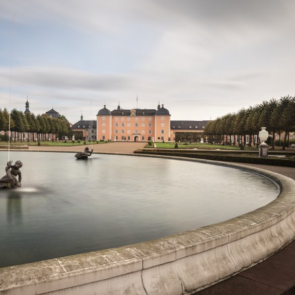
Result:
<svg viewBox="0 0 295 295">
<path fill-rule="evenodd" d="M 98 291 L 100 294 L 189 294 L 257 264 L 294 239 L 294 180 L 226 162 L 157 158 L 202 162 L 258 173 L 278 183 L 281 193 L 274 201 L 252 212 L 185 233 L 1 268 L 0 294 L 81 295 Z"/>
</svg>

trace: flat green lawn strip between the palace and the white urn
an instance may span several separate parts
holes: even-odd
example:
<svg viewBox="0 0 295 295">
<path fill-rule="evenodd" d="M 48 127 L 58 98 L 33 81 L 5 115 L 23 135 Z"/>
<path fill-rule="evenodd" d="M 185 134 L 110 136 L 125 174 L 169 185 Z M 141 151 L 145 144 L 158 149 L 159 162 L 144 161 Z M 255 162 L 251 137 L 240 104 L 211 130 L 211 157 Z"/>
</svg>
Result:
<svg viewBox="0 0 295 295">
<path fill-rule="evenodd" d="M 184 142 L 177 142 L 178 149 L 203 149 L 203 150 L 211 150 L 211 149 L 220 149 L 220 150 L 240 150 L 239 146 L 234 145 L 222 145 L 222 144 L 207 144 L 207 143 L 188 143 L 184 144 Z M 156 142 L 157 147 L 159 149 L 174 149 L 175 142 Z M 151 147 L 146 145 L 146 147 Z M 247 147 L 245 146 L 245 150 L 258 150 L 257 147 Z"/>
</svg>

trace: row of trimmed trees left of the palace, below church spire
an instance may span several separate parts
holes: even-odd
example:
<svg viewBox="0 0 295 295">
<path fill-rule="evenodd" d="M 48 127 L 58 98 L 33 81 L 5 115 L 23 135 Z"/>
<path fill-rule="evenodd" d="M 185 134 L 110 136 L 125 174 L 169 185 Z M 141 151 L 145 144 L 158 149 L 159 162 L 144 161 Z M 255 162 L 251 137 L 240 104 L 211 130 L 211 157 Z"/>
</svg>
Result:
<svg viewBox="0 0 295 295">
<path fill-rule="evenodd" d="M 8 141 L 9 111 L 6 108 L 4 110 L 0 108 L 0 130 L 5 131 L 5 140 Z M 22 111 L 13 109 L 10 113 L 10 130 L 14 132 L 15 141 L 16 139 L 22 141 L 24 136 L 19 138 L 19 134 L 26 132 L 37 133 L 38 140 L 40 140 L 40 134 L 45 134 L 43 138 L 47 140 L 49 133 L 55 134 L 55 138 L 68 135 L 70 125 L 64 116 L 59 118 L 52 118 L 45 114 L 35 116 L 33 113 L 24 114 Z M 53 137 L 52 141 L 54 140 Z"/>
</svg>

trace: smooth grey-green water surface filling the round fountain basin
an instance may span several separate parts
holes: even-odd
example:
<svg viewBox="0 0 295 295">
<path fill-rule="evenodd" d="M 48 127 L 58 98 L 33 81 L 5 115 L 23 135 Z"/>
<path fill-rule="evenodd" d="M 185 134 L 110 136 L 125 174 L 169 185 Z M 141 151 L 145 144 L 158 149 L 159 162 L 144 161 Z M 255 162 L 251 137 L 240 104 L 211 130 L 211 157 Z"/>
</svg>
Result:
<svg viewBox="0 0 295 295">
<path fill-rule="evenodd" d="M 24 163 L 22 188 L 0 190 L 0 267 L 177 234 L 254 210 L 279 193 L 259 175 L 186 161 L 13 158 Z"/>
</svg>

